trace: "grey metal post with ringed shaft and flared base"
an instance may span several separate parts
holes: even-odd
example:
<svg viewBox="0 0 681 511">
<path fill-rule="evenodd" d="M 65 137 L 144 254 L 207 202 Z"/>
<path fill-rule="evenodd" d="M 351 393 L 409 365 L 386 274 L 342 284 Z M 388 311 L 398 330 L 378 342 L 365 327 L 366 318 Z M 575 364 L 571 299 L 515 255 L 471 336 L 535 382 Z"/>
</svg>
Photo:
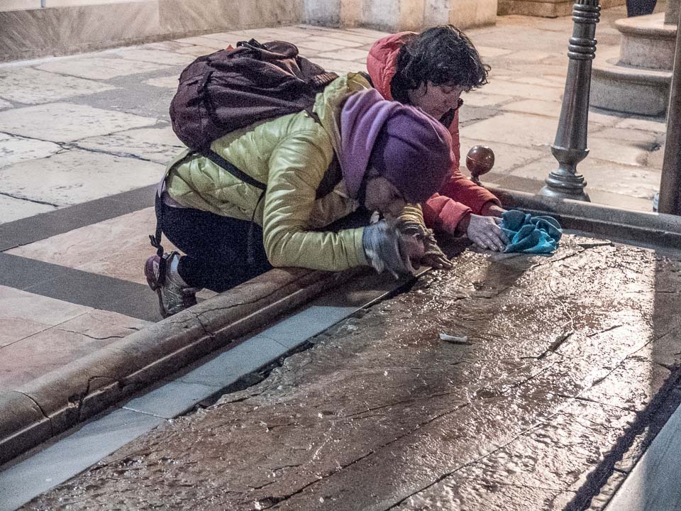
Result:
<svg viewBox="0 0 681 511">
<path fill-rule="evenodd" d="M 591 65 L 596 56 L 594 36 L 600 11 L 599 0 L 577 0 L 572 6 L 575 27 L 567 49 L 570 63 L 567 67 L 558 131 L 551 145 L 551 153 L 558 160 L 558 170 L 550 172 L 546 186 L 539 192 L 541 195 L 589 201 L 589 196 L 584 191 L 587 183 L 582 175 L 577 174 L 577 163 L 589 154 L 587 127 Z"/>
</svg>

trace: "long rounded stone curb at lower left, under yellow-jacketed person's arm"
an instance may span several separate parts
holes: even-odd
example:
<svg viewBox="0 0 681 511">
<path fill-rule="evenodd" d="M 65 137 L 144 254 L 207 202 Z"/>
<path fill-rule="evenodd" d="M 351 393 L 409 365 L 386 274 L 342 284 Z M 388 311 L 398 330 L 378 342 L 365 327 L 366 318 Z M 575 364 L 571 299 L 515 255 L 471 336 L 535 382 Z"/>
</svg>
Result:
<svg viewBox="0 0 681 511">
<path fill-rule="evenodd" d="M 1 393 L 0 463 L 366 271 L 270 270 Z"/>
</svg>

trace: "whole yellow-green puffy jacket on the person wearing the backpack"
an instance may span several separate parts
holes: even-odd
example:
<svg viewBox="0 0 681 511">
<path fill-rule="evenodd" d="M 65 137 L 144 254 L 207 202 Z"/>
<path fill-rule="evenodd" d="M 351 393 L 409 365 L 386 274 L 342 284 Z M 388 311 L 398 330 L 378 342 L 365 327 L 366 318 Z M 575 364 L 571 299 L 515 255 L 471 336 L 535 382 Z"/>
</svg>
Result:
<svg viewBox="0 0 681 511">
<path fill-rule="evenodd" d="M 357 209 L 343 182 L 319 199 L 316 191 L 341 142 L 340 114 L 348 94 L 370 88 L 359 74 L 339 77 L 317 94 L 313 111 L 255 123 L 218 138 L 211 149 L 255 180 L 261 190 L 239 180 L 211 160 L 185 151 L 168 167 L 167 192 L 184 207 L 248 220 L 262 226 L 267 259 L 273 266 L 345 270 L 367 265 L 363 229 L 316 232 Z M 253 216 L 253 210 L 255 216 Z"/>
</svg>

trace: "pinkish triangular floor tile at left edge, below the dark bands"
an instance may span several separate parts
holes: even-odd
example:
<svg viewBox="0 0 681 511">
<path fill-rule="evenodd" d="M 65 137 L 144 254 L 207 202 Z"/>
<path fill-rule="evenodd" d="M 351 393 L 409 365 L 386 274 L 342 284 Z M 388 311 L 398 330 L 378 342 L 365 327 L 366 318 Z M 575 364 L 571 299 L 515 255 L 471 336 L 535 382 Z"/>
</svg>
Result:
<svg viewBox="0 0 681 511">
<path fill-rule="evenodd" d="M 0 285 L 0 348 L 91 311 L 91 307 Z"/>
</svg>

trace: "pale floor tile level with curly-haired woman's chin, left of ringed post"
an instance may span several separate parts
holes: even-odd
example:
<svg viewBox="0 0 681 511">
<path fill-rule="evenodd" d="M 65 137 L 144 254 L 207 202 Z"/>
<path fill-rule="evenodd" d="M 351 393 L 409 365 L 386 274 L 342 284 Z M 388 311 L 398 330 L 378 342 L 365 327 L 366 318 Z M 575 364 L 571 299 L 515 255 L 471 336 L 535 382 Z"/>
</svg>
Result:
<svg viewBox="0 0 681 511">
<path fill-rule="evenodd" d="M 550 145 L 555 138 L 556 120 L 548 117 L 506 113 L 460 128 L 461 136 L 479 141 L 504 141 L 521 147 Z"/>
</svg>

